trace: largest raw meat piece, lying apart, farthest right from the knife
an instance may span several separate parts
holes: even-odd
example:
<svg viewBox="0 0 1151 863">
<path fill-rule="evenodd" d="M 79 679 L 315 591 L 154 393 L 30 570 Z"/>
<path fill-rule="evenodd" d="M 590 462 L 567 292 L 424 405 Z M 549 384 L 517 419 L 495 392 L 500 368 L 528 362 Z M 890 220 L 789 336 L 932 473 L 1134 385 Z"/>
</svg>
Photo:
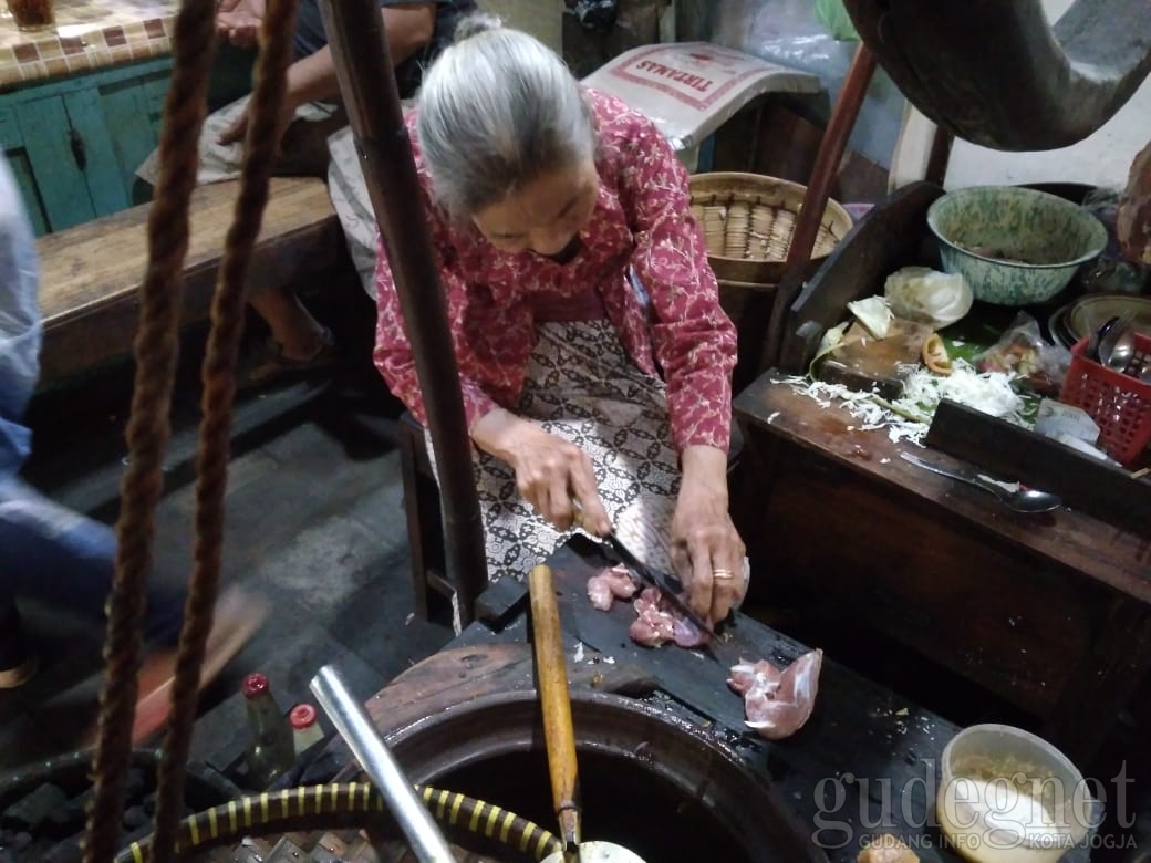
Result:
<svg viewBox="0 0 1151 863">
<path fill-rule="evenodd" d="M 823 651 L 813 650 L 779 671 L 767 659 L 731 666 L 727 686 L 744 696 L 747 726 L 761 738 L 783 740 L 808 720 L 815 708 Z"/>
</svg>

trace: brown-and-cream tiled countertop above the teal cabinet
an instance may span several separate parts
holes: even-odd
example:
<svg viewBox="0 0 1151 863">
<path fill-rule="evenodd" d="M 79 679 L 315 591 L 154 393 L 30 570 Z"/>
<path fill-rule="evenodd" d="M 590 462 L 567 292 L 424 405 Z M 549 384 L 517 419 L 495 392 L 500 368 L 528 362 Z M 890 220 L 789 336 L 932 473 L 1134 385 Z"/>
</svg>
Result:
<svg viewBox="0 0 1151 863">
<path fill-rule="evenodd" d="M 54 30 L 25 33 L 0 3 L 0 92 L 170 51 L 176 0 L 55 0 Z"/>
</svg>

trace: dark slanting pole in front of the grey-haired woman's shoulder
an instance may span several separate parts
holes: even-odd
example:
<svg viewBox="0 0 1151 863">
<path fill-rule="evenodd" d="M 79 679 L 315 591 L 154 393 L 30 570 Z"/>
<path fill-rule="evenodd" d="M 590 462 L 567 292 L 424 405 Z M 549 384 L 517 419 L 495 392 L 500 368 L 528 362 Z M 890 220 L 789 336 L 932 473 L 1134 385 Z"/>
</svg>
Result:
<svg viewBox="0 0 1151 863">
<path fill-rule="evenodd" d="M 445 568 L 456 589 L 460 623 L 466 626 L 474 617 L 475 597 L 488 583 L 483 521 L 472 473 L 459 369 L 455 352 L 445 350 L 452 339 L 444 291 L 420 203 L 424 196 L 380 3 L 322 0 L 320 9 L 412 345 L 439 467 Z"/>
</svg>

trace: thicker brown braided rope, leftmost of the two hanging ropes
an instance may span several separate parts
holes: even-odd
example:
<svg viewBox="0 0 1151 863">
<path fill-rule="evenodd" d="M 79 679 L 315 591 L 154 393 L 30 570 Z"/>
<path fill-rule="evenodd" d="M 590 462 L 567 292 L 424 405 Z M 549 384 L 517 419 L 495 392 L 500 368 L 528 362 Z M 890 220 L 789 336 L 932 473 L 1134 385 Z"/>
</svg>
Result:
<svg viewBox="0 0 1151 863">
<path fill-rule="evenodd" d="M 100 696 L 85 863 L 113 858 L 123 814 L 142 654 L 144 588 L 152 565 L 153 512 L 163 488 L 161 466 L 171 432 L 168 414 L 188 251 L 188 204 L 196 186 L 197 140 L 204 124 L 214 15 L 213 0 L 183 0 L 176 15 L 174 74 L 160 137 L 160 177 L 147 222 L 148 262 L 140 289 L 136 381 L 127 430 L 129 463 L 121 483 L 116 525 L 116 574 L 104 649 L 107 677 Z"/>
</svg>

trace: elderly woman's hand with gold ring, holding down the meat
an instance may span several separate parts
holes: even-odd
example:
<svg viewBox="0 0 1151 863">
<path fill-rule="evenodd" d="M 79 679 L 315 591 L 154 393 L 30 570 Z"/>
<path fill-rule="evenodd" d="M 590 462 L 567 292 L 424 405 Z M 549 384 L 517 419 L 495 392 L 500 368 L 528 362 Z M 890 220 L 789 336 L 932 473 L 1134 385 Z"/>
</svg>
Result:
<svg viewBox="0 0 1151 863">
<path fill-rule="evenodd" d="M 671 520 L 671 559 L 692 609 L 716 624 L 747 589 L 747 550 L 727 512 L 727 456 L 712 446 L 688 446 L 681 458 L 684 480 Z"/>
</svg>

